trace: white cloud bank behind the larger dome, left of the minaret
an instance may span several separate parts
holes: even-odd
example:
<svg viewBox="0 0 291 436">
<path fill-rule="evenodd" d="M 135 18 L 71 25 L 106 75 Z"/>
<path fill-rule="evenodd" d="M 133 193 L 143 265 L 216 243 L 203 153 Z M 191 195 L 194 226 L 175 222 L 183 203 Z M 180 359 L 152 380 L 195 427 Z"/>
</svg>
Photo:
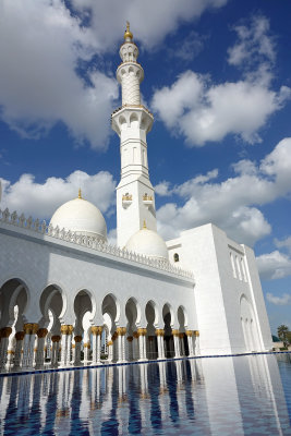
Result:
<svg viewBox="0 0 291 436">
<path fill-rule="evenodd" d="M 74 171 L 68 178 L 49 178 L 45 183 L 36 183 L 34 175 L 23 174 L 15 183 L 1 179 L 1 209 L 50 219 L 54 210 L 69 199 L 77 196 L 82 187 L 83 197 L 95 204 L 102 213 L 109 213 L 116 203 L 116 181 L 107 171 L 89 175 Z"/>
</svg>

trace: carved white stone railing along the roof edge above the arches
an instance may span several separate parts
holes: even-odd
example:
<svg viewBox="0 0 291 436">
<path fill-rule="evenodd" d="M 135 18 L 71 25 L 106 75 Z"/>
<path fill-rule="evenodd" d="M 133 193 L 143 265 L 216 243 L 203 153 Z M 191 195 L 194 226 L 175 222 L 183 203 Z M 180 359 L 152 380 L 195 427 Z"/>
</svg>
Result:
<svg viewBox="0 0 291 436">
<path fill-rule="evenodd" d="M 70 242 L 72 244 L 86 246 L 88 249 L 110 254 L 116 257 L 136 262 L 138 264 L 147 265 L 156 269 L 161 269 L 167 272 L 172 272 L 178 276 L 193 279 L 193 274 L 191 271 L 174 267 L 168 261 L 155 259 L 138 253 L 130 252 L 125 249 L 110 245 L 97 238 L 92 238 L 72 232 L 70 230 L 66 231 L 64 229 L 60 229 L 58 226 L 47 226 L 46 221 L 40 221 L 39 219 L 34 220 L 32 217 L 25 218 L 23 214 L 19 216 L 16 211 L 13 211 L 11 214 L 8 208 L 5 210 L 0 209 L 0 222 L 5 222 L 17 228 L 29 230 L 32 232 L 41 233 L 50 238 L 56 238 L 62 241 Z"/>
</svg>

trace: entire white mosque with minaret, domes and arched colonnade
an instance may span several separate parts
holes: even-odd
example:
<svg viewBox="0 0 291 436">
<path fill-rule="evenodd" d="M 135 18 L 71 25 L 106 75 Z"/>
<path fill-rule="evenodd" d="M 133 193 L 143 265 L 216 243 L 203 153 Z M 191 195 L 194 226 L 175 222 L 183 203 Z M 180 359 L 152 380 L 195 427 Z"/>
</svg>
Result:
<svg viewBox="0 0 291 436">
<path fill-rule="evenodd" d="M 271 349 L 253 251 L 211 223 L 165 242 L 157 233 L 144 70 L 128 25 L 117 78 L 122 106 L 117 246 L 82 197 L 49 226 L 0 210 L 0 371 L 228 355 Z"/>
</svg>

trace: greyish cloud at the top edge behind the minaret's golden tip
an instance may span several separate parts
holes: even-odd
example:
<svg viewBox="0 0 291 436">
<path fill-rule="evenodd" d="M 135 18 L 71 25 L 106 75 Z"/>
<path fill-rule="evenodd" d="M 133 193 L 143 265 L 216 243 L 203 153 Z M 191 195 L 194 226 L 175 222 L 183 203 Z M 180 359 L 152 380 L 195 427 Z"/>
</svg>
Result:
<svg viewBox="0 0 291 436">
<path fill-rule="evenodd" d="M 120 41 L 125 21 L 130 21 L 133 35 L 144 47 L 157 46 L 175 32 L 181 22 L 192 22 L 205 11 L 223 7 L 228 0 L 72 0 L 77 11 L 89 21 L 98 33 L 100 48 L 107 50 Z"/>
</svg>

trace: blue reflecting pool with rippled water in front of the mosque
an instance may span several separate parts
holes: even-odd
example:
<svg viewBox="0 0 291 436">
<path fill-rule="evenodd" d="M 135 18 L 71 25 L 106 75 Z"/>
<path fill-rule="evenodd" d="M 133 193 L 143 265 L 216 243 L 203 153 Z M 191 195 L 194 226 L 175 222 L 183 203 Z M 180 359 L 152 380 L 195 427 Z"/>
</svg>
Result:
<svg viewBox="0 0 291 436">
<path fill-rule="evenodd" d="M 291 435 L 290 356 L 0 377 L 0 434 Z"/>
</svg>

